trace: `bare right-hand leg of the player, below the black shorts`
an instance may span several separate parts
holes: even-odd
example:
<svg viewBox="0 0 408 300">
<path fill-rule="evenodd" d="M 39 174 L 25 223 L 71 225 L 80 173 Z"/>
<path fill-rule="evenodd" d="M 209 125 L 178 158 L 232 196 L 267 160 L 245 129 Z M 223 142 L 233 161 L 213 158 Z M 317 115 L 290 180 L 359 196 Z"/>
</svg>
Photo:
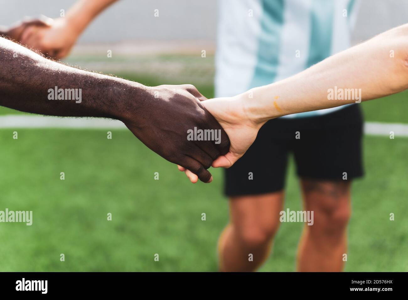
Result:
<svg viewBox="0 0 408 300">
<path fill-rule="evenodd" d="M 299 243 L 298 271 L 342 271 L 350 218 L 350 181 L 302 179 L 305 209 L 314 224 L 305 225 Z"/>
</svg>

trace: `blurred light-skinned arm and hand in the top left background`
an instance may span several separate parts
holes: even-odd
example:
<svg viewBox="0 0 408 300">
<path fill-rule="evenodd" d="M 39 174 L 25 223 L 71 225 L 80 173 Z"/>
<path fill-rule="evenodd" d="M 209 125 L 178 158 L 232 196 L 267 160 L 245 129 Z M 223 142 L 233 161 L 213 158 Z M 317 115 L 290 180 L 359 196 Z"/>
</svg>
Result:
<svg viewBox="0 0 408 300">
<path fill-rule="evenodd" d="M 76 40 L 104 9 L 118 0 L 79 0 L 64 17 L 51 19 L 46 24 L 28 24 L 19 28 L 22 44 L 42 54 L 61 59 L 71 51 Z"/>
</svg>

